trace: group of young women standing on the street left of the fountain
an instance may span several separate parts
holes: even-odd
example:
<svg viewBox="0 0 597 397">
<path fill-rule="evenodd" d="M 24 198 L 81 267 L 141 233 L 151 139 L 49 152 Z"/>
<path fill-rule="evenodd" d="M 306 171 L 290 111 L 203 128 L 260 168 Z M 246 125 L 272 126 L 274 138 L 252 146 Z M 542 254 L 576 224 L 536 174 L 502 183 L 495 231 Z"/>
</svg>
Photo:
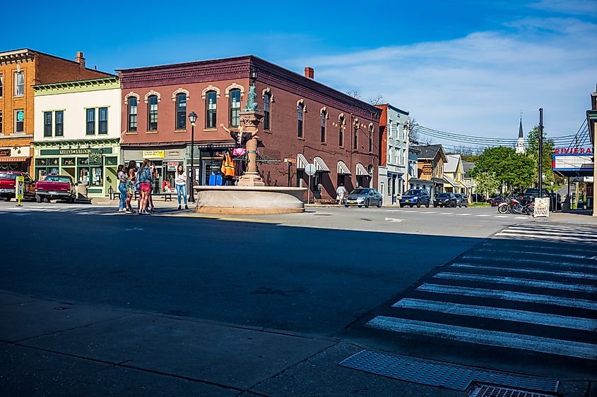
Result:
<svg viewBox="0 0 597 397">
<path fill-rule="evenodd" d="M 153 197 L 151 195 L 153 181 L 158 178 L 158 169 L 151 164 L 151 161 L 144 159 L 140 167 L 137 167 L 136 161 L 129 161 L 128 165 L 120 164 L 118 166 L 117 178 L 119 180 L 118 190 L 120 192 L 120 203 L 118 212 L 134 214 L 131 206 L 131 200 L 138 192 L 137 200 L 138 215 L 149 215 L 155 213 Z M 189 209 L 187 205 L 187 174 L 184 173 L 182 164 L 177 167 L 175 175 L 175 185 L 178 195 L 178 209 L 181 207 L 181 196 L 184 198 L 184 208 Z"/>
</svg>

